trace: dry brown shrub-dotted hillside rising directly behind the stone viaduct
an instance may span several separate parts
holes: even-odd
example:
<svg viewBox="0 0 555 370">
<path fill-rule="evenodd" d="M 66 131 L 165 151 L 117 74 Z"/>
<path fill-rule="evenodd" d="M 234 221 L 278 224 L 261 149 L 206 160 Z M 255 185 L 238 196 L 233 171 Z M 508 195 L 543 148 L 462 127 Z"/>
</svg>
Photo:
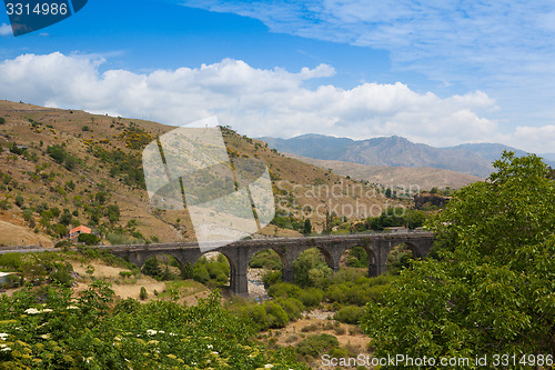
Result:
<svg viewBox="0 0 555 370">
<path fill-rule="evenodd" d="M 49 240 L 46 244 L 52 244 L 81 223 L 91 226 L 105 243 L 194 239 L 188 213 L 153 208 L 144 187 L 142 149 L 172 127 L 9 101 L 0 101 L 0 117 L 4 121 L 0 123 L 0 217 L 11 228 L 0 234 L 0 243 L 19 244 L 22 239 L 29 244 Z M 260 158 L 269 166 L 279 214 L 286 218 L 282 227 L 307 216 L 319 230 L 324 210 L 359 219 L 400 203 L 373 187 L 286 158 L 229 128 L 222 132 L 231 157 Z M 325 204 L 320 213 L 315 212 L 319 204 Z M 274 226 L 263 233 L 299 234 Z"/>
</svg>

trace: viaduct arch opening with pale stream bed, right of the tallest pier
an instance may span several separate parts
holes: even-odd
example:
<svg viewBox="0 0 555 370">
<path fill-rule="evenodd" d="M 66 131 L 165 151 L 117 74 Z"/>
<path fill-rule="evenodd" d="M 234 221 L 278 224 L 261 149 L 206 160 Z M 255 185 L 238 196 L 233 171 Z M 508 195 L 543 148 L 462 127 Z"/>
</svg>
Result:
<svg viewBox="0 0 555 370">
<path fill-rule="evenodd" d="M 249 261 L 246 272 L 249 297 L 265 299 L 266 288 L 282 280 L 282 258 L 273 249 L 255 253 Z"/>
</svg>

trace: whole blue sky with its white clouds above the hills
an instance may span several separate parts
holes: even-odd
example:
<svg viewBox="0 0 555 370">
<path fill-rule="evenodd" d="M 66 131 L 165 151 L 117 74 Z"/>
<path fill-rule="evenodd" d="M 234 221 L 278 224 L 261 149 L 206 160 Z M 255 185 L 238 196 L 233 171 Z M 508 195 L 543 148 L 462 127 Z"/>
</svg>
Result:
<svg viewBox="0 0 555 370">
<path fill-rule="evenodd" d="M 90 0 L 18 38 L 0 10 L 0 99 L 555 152 L 552 1 Z"/>
</svg>

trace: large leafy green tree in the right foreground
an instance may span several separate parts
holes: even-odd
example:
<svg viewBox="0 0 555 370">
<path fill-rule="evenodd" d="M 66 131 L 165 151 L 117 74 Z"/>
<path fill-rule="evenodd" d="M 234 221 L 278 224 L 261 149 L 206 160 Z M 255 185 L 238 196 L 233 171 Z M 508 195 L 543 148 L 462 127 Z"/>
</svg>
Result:
<svg viewBox="0 0 555 370">
<path fill-rule="evenodd" d="M 369 303 L 375 356 L 555 352 L 555 182 L 534 154 L 494 167 L 431 223 L 440 260 L 414 262 Z"/>
</svg>

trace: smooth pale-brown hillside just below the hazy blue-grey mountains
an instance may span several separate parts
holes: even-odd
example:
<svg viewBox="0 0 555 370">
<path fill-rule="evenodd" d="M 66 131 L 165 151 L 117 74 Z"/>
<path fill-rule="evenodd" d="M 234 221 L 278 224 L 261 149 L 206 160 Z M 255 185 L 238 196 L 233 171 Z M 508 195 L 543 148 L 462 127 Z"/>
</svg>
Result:
<svg viewBox="0 0 555 370">
<path fill-rule="evenodd" d="M 369 181 L 383 187 L 412 188 L 415 191 L 430 190 L 433 187 L 458 189 L 468 183 L 483 180 L 472 174 L 431 167 L 365 166 L 352 162 L 312 159 L 294 154 L 289 156 L 324 169 L 332 169 L 337 174 L 349 176 L 356 180 Z"/>
</svg>

